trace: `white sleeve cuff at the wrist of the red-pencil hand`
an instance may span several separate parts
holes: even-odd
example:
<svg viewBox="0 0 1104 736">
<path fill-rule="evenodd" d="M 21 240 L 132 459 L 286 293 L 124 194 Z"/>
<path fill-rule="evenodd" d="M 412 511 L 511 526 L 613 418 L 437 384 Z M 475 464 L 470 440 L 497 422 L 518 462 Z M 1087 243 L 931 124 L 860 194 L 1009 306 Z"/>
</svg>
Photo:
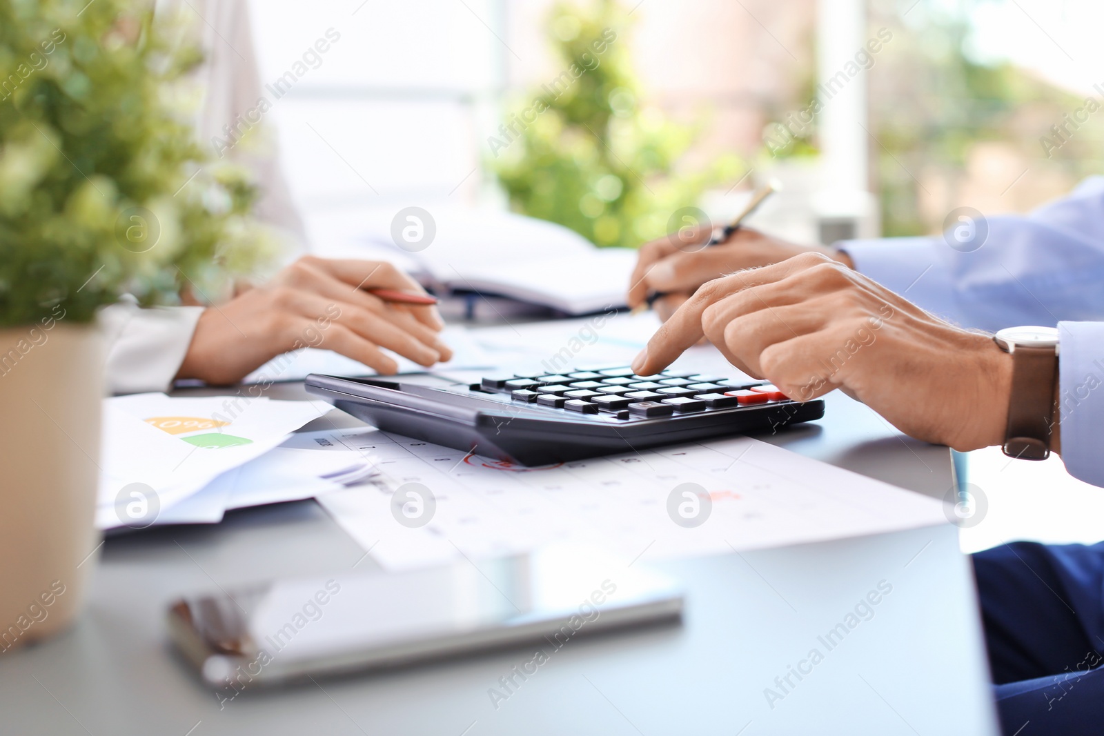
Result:
<svg viewBox="0 0 1104 736">
<path fill-rule="evenodd" d="M 202 313 L 203 307 L 141 309 L 132 300 L 102 309 L 107 390 L 137 394 L 171 388 Z"/>
</svg>

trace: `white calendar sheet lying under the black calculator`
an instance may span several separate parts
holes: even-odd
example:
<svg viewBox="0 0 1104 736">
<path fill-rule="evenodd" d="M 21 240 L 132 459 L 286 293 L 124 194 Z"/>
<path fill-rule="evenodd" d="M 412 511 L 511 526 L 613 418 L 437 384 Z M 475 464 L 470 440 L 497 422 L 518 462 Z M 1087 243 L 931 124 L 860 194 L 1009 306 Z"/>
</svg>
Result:
<svg viewBox="0 0 1104 736">
<path fill-rule="evenodd" d="M 532 550 L 571 538 L 660 559 L 841 538 L 947 523 L 942 504 L 754 439 L 737 437 L 545 468 L 509 466 L 375 429 L 335 433 L 381 470 L 374 484 L 319 503 L 385 568 L 407 569 Z M 407 527 L 392 513 L 406 483 L 436 510 Z M 684 527 L 672 492 L 697 483 L 704 523 Z M 410 488 L 410 487 L 407 487 Z M 407 498 L 407 497 L 404 497 Z"/>
</svg>

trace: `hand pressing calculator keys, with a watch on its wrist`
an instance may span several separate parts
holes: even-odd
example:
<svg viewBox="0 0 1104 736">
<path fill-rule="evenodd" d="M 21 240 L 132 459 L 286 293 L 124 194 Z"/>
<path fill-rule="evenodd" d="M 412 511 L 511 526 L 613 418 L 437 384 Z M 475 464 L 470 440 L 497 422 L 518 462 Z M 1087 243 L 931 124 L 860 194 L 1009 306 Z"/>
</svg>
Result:
<svg viewBox="0 0 1104 736">
<path fill-rule="evenodd" d="M 633 369 L 656 373 L 702 335 L 796 401 L 841 388 L 917 439 L 964 451 L 1004 441 L 1011 356 L 828 256 L 709 281 Z"/>
</svg>

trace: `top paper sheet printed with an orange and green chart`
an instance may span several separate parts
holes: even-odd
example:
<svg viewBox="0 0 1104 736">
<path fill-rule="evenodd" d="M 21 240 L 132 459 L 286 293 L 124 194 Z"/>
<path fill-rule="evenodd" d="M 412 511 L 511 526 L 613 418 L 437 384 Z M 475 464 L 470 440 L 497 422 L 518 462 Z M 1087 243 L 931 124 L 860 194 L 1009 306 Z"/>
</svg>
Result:
<svg viewBox="0 0 1104 736">
<path fill-rule="evenodd" d="M 148 525 L 160 514 L 172 519 L 173 506 L 330 409 L 326 402 L 237 395 L 170 398 L 135 394 L 104 399 L 96 523 L 99 529 L 113 529 Z M 142 499 L 124 492 L 135 483 L 151 489 L 152 498 L 142 487 Z M 193 502 L 193 509 L 178 513 L 211 518 L 215 513 L 211 498 L 220 492 L 216 488 Z M 140 503 L 130 506 L 132 499 Z"/>
</svg>

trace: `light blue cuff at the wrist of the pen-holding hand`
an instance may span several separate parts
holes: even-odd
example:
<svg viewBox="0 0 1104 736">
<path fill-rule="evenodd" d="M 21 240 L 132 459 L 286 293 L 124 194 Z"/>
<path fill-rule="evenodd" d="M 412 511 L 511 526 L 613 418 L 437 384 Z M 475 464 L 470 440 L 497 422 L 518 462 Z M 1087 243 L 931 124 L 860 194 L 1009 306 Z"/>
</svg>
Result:
<svg viewBox="0 0 1104 736">
<path fill-rule="evenodd" d="M 890 237 L 836 244 L 863 276 L 943 319 L 964 324 L 953 288 L 947 245 L 932 237 Z"/>
</svg>

